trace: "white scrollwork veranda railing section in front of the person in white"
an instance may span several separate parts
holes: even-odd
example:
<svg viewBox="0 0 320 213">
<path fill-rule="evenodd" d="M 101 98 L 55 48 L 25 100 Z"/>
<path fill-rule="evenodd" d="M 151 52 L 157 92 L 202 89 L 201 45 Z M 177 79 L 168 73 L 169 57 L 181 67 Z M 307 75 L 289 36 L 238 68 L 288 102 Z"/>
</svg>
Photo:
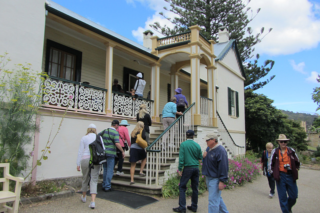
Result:
<svg viewBox="0 0 320 213">
<path fill-rule="evenodd" d="M 133 100 L 133 97 L 127 94 L 112 93 L 112 114 L 115 116 L 135 118 L 141 104 L 145 104 L 146 111 L 152 115 L 152 100 L 144 98 L 136 98 Z"/>
</svg>

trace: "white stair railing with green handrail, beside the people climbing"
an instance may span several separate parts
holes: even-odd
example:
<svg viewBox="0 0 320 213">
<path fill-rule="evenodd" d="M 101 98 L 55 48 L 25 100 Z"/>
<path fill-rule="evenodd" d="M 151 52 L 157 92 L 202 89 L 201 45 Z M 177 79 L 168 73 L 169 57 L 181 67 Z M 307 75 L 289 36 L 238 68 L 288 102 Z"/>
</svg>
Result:
<svg viewBox="0 0 320 213">
<path fill-rule="evenodd" d="M 165 164 L 173 152 L 178 152 L 178 147 L 186 140 L 185 132 L 194 129 L 193 106 L 194 103 L 146 148 L 146 185 L 151 185 L 154 178 L 155 185 L 158 185 L 160 164 Z"/>
</svg>

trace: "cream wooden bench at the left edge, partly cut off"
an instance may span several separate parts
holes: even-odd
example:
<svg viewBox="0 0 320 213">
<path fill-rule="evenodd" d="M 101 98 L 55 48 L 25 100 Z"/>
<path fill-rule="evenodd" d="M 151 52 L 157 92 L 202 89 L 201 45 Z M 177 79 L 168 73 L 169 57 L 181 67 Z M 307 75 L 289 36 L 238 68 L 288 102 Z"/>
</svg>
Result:
<svg viewBox="0 0 320 213">
<path fill-rule="evenodd" d="M 3 183 L 3 190 L 0 191 L 0 212 L 17 213 L 20 202 L 20 192 L 23 178 L 13 177 L 9 174 L 9 164 L 0 164 L 0 168 L 3 167 L 3 178 L 0 178 L 0 182 Z M 9 180 L 15 181 L 14 192 L 9 191 Z M 12 207 L 6 206 L 6 202 L 13 201 Z"/>
</svg>

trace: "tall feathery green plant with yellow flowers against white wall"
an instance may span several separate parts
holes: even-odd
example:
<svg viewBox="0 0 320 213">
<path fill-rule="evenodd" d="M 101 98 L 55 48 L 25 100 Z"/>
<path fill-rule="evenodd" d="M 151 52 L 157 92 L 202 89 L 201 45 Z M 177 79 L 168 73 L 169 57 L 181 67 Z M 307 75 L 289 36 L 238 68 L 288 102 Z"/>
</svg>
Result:
<svg viewBox="0 0 320 213">
<path fill-rule="evenodd" d="M 25 153 L 25 149 L 38 129 L 35 119 L 44 78 L 31 70 L 30 64 L 5 69 L 10 61 L 6 55 L 0 55 L 0 163 L 10 163 L 10 174 L 17 176 L 33 155 L 33 151 Z"/>
</svg>

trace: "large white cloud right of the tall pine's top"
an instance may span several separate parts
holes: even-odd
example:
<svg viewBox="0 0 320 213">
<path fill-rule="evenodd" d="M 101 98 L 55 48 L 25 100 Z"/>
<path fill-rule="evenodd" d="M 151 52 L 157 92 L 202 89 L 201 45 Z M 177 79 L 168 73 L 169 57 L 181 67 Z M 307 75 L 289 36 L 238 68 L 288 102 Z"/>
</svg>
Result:
<svg viewBox="0 0 320 213">
<path fill-rule="evenodd" d="M 319 5 L 308 0 L 254 0 L 253 11 L 260 7 L 250 23 L 254 32 L 272 27 L 256 45 L 256 51 L 269 55 L 293 54 L 315 48 L 320 42 Z"/>
</svg>

